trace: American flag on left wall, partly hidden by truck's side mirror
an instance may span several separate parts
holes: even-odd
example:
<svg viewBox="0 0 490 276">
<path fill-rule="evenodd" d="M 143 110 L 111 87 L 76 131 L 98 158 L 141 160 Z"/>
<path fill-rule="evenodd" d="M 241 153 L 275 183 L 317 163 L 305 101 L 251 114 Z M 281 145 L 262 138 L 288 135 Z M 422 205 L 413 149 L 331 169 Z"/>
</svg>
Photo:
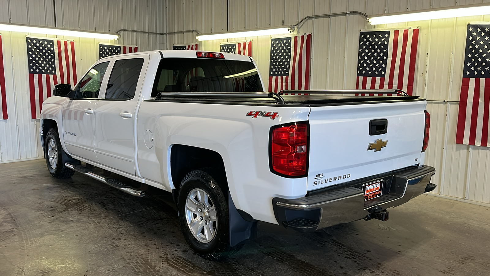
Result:
<svg viewBox="0 0 490 276">
<path fill-rule="evenodd" d="M 27 36 L 31 118 L 38 119 L 54 84 L 76 83 L 75 42 Z"/>
</svg>

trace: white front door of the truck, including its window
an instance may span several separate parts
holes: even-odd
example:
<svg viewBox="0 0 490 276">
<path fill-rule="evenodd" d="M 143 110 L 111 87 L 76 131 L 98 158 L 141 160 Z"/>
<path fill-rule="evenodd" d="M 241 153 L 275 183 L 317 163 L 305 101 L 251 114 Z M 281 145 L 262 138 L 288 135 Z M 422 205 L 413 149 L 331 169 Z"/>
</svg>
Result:
<svg viewBox="0 0 490 276">
<path fill-rule="evenodd" d="M 63 107 L 63 138 L 72 155 L 97 162 L 94 150 L 94 112 L 109 61 L 96 64 L 75 87 L 73 100 Z"/>
</svg>

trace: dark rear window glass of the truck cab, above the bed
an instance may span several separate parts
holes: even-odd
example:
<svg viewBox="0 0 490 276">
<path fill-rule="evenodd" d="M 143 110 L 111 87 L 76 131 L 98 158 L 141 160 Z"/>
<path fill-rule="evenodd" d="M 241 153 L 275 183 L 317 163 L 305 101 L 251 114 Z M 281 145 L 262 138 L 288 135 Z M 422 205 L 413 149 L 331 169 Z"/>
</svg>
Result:
<svg viewBox="0 0 490 276">
<path fill-rule="evenodd" d="M 252 62 L 209 58 L 164 58 L 151 97 L 160 92 L 263 92 Z"/>
</svg>

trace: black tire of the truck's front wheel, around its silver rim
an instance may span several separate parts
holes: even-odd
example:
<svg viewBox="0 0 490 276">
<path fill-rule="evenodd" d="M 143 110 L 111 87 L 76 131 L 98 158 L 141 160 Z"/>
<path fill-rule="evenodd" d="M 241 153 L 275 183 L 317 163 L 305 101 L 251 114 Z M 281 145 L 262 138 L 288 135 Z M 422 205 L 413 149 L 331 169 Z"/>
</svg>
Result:
<svg viewBox="0 0 490 276">
<path fill-rule="evenodd" d="M 65 162 L 68 161 L 68 158 L 66 158 L 67 154 L 64 152 L 63 147 L 61 146 L 58 130 L 55 128 L 50 129 L 44 141 L 44 156 L 46 158 L 46 165 L 48 166 L 51 176 L 54 178 L 71 177 L 75 172 L 65 166 Z M 55 145 L 55 148 L 50 147 L 51 141 Z M 56 154 L 57 158 L 56 161 L 53 162 L 54 164 L 51 165 L 50 155 L 52 156 L 53 153 Z"/>
</svg>

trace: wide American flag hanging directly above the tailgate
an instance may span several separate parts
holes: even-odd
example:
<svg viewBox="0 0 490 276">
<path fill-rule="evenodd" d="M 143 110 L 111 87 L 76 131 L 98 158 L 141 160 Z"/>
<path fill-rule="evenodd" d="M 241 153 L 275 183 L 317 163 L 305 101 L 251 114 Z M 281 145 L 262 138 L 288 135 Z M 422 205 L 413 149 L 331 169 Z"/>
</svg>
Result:
<svg viewBox="0 0 490 276">
<path fill-rule="evenodd" d="M 400 89 L 412 95 L 417 47 L 418 28 L 361 31 L 356 89 Z"/>
</svg>

